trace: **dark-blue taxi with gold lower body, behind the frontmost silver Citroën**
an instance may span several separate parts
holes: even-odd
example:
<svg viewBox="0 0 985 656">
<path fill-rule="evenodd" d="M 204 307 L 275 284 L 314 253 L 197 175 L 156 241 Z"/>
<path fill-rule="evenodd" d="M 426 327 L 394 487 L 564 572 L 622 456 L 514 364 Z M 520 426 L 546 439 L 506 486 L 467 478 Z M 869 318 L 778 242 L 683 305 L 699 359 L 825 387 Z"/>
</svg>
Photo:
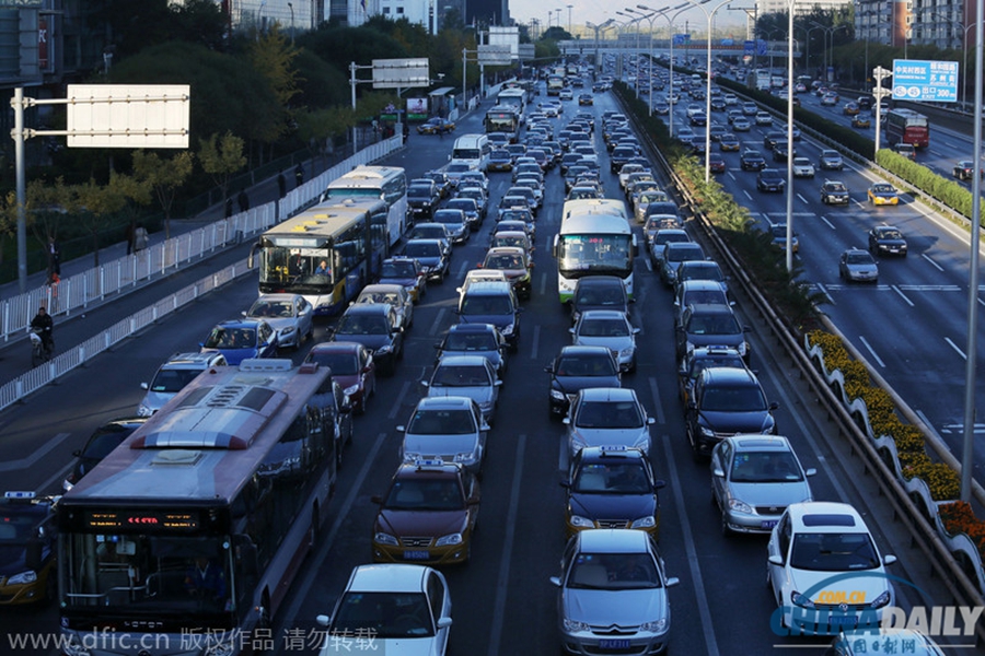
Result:
<svg viewBox="0 0 985 656">
<path fill-rule="evenodd" d="M 571 459 L 561 481 L 567 494 L 567 535 L 590 528 L 633 528 L 660 538 L 660 499 L 667 483 L 653 476 L 638 448 L 588 446 Z"/>
</svg>

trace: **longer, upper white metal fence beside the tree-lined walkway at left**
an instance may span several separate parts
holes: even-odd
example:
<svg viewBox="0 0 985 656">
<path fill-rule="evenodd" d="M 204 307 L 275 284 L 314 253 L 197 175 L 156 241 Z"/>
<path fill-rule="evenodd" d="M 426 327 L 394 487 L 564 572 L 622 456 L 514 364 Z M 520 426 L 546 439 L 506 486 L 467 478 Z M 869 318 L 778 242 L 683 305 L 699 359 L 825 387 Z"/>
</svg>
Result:
<svg viewBox="0 0 985 656">
<path fill-rule="evenodd" d="M 360 164 L 374 162 L 402 145 L 401 136 L 380 141 L 292 189 L 278 201 L 257 206 L 171 237 L 135 255 L 93 267 L 62 279 L 57 285 L 42 285 L 5 298 L 0 305 L 0 339 L 10 342 L 25 337 L 31 319 L 42 304 L 53 316 L 71 316 L 72 312 L 88 309 L 107 297 L 131 291 L 140 283 L 169 276 L 218 248 L 239 244 L 243 238 L 263 232 L 313 204 L 333 179 Z M 3 405 L 0 403 L 0 407 Z"/>
</svg>

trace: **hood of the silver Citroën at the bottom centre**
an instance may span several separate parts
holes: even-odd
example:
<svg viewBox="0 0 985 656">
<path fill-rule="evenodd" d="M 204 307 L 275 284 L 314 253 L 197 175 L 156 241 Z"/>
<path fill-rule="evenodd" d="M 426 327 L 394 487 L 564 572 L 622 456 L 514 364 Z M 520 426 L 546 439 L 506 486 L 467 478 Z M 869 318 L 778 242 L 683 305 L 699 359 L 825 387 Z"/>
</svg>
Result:
<svg viewBox="0 0 985 656">
<path fill-rule="evenodd" d="M 667 588 L 583 590 L 566 588 L 565 617 L 595 626 L 634 626 L 669 614 Z"/>
</svg>

